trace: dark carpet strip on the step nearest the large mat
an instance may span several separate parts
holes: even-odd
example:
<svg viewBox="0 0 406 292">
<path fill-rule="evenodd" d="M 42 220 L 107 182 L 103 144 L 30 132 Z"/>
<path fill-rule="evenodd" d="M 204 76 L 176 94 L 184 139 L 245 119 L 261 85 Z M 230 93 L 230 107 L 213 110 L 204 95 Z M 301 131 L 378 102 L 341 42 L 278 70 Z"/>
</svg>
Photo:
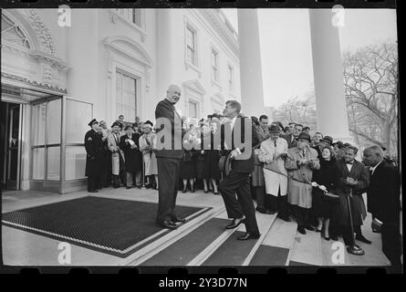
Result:
<svg viewBox="0 0 406 292">
<path fill-rule="evenodd" d="M 227 224 L 230 224 L 229 219 L 210 219 L 140 266 L 186 266 L 224 233 Z"/>
</svg>

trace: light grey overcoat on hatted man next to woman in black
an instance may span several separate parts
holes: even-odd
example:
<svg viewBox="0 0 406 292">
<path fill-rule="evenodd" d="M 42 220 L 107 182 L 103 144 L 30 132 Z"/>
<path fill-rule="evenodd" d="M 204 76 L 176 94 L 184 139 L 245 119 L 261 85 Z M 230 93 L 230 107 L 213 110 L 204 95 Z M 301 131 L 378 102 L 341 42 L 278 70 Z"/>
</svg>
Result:
<svg viewBox="0 0 406 292">
<path fill-rule="evenodd" d="M 312 163 L 297 166 L 297 162 L 303 158 L 311 160 Z M 287 202 L 302 208 L 311 208 L 313 170 L 320 168 L 318 151 L 307 147 L 306 154 L 303 156 L 302 151 L 297 146 L 293 147 L 287 151 L 285 167 L 289 177 L 287 183 Z"/>
</svg>

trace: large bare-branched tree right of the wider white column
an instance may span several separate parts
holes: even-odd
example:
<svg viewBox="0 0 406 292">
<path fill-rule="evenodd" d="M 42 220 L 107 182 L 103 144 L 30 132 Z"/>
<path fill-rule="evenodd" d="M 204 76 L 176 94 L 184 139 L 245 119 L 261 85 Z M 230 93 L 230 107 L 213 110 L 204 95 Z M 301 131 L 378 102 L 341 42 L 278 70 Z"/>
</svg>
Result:
<svg viewBox="0 0 406 292">
<path fill-rule="evenodd" d="M 349 130 L 357 141 L 397 152 L 399 99 L 396 43 L 347 52 L 343 58 Z"/>
</svg>

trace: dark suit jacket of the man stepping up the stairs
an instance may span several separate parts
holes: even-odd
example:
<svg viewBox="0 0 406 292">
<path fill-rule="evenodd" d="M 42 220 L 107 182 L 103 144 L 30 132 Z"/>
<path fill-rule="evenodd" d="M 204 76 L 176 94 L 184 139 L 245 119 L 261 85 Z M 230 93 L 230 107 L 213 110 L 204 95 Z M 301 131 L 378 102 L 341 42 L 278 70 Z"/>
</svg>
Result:
<svg viewBox="0 0 406 292">
<path fill-rule="evenodd" d="M 231 151 L 235 150 L 236 148 L 238 148 L 237 145 L 234 145 L 234 130 L 235 127 L 240 124 L 241 125 L 241 142 L 245 143 L 245 119 L 249 119 L 246 117 L 243 117 L 241 115 L 237 116 L 237 119 L 235 120 L 234 123 L 234 128 L 232 130 L 232 145 L 230 147 L 230 145 L 227 145 L 228 148 L 228 153 L 230 153 Z M 237 121 L 239 120 L 239 121 Z M 249 119 L 249 124 L 251 125 L 251 146 L 254 147 L 257 144 L 259 144 L 259 139 L 256 133 L 256 128 L 254 125 L 252 125 L 251 123 L 251 119 Z M 231 124 L 230 122 L 226 123 L 223 125 L 222 127 L 222 131 L 227 131 L 227 130 L 231 130 Z M 226 142 L 225 142 L 226 144 Z M 224 133 L 222 134 L 222 148 L 224 148 Z M 245 151 L 244 147 L 240 147 L 240 151 Z M 254 157 L 253 157 L 253 153 L 252 151 L 250 151 L 249 153 L 249 158 L 245 159 L 245 160 L 233 160 L 231 162 L 231 168 L 234 172 L 239 172 L 239 173 L 250 173 L 254 171 Z"/>
</svg>

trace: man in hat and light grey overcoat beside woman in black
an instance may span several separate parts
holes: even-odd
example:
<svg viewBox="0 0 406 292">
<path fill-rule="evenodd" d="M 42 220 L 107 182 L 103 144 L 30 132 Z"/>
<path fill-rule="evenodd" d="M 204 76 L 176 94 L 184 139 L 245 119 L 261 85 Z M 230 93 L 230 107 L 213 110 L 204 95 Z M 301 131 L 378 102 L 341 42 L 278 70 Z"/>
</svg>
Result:
<svg viewBox="0 0 406 292">
<path fill-rule="evenodd" d="M 318 151 L 309 147 L 310 135 L 301 132 L 297 137 L 297 146 L 287 151 L 286 170 L 288 172 L 287 201 L 293 205 L 297 218 L 297 231 L 305 235 L 314 230 L 308 224 L 308 210 L 312 206 L 313 170 L 320 168 Z"/>
</svg>

